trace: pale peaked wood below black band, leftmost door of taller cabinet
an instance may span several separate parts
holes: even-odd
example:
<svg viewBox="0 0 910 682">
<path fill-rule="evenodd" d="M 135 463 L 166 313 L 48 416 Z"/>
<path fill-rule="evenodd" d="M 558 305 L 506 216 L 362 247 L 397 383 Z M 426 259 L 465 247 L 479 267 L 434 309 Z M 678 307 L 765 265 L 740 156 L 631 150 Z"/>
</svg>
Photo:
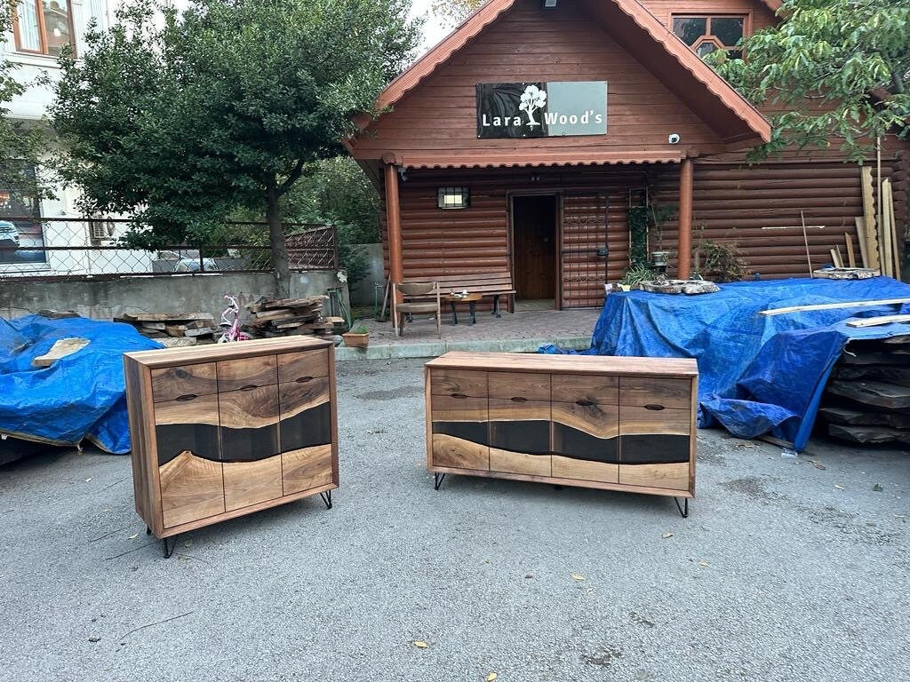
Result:
<svg viewBox="0 0 910 682">
<path fill-rule="evenodd" d="M 225 511 L 221 463 L 184 452 L 158 468 L 164 527 L 174 527 Z"/>
</svg>

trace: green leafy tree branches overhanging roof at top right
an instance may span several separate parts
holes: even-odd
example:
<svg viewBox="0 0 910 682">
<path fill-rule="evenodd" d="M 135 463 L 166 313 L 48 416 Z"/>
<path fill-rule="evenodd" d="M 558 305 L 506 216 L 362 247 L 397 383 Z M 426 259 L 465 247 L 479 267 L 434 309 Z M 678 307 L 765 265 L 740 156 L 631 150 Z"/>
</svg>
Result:
<svg viewBox="0 0 910 682">
<path fill-rule="evenodd" d="M 780 25 L 743 40 L 745 59 L 709 56 L 753 104 L 786 109 L 754 160 L 834 138 L 862 162 L 876 137 L 907 135 L 910 0 L 784 0 L 778 15 Z"/>
</svg>

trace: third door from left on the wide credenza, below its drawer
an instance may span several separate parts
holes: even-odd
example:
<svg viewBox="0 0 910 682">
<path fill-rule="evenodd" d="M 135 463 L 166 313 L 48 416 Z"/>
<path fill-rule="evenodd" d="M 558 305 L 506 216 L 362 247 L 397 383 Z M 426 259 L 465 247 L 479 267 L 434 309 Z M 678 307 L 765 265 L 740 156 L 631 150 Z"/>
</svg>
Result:
<svg viewBox="0 0 910 682">
<path fill-rule="evenodd" d="M 552 404 L 553 476 L 619 482 L 619 407 L 588 400 Z"/>
</svg>

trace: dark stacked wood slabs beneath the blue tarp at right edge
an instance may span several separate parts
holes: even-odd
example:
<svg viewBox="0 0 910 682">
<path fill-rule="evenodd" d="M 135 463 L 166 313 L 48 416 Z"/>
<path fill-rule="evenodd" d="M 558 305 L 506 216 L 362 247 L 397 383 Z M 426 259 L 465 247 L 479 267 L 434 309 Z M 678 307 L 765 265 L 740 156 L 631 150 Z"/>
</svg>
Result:
<svg viewBox="0 0 910 682">
<path fill-rule="evenodd" d="M 840 440 L 910 444 L 910 331 L 851 342 L 834 366 L 818 414 L 825 433 Z"/>
</svg>

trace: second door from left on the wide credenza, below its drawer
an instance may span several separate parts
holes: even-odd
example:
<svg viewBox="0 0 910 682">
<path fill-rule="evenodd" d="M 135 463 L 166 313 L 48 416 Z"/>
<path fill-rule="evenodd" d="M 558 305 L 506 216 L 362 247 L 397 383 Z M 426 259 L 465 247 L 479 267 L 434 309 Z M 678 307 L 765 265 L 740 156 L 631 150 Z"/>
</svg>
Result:
<svg viewBox="0 0 910 682">
<path fill-rule="evenodd" d="M 550 417 L 549 402 L 490 398 L 490 471 L 550 476 Z"/>
</svg>

